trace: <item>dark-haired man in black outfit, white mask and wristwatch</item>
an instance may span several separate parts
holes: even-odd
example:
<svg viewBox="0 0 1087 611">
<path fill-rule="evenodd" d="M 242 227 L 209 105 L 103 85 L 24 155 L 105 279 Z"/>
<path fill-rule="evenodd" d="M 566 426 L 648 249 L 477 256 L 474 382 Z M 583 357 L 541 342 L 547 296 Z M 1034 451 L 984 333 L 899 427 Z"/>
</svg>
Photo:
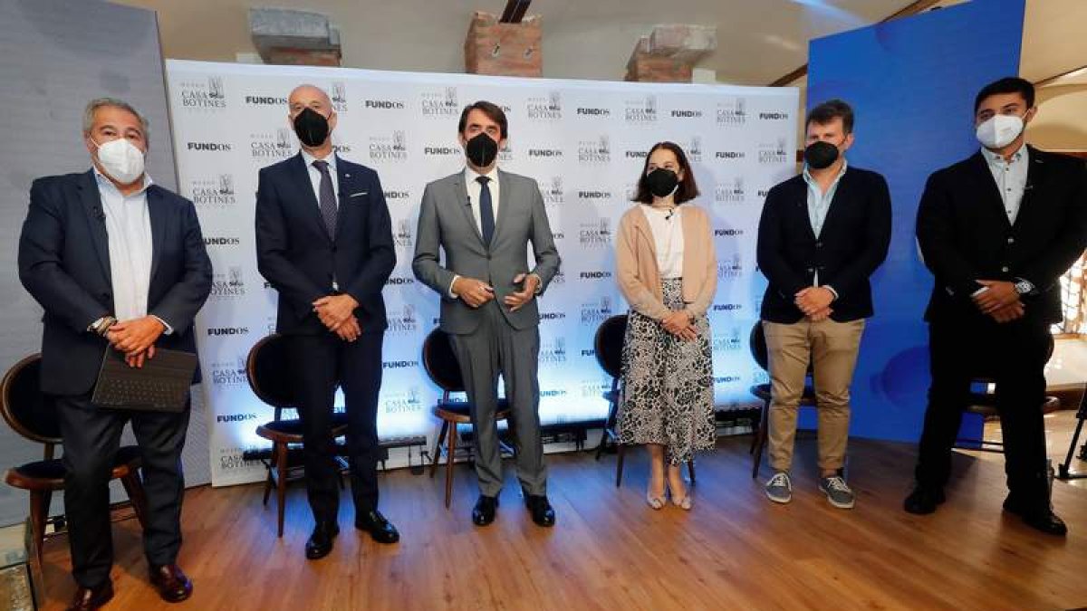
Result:
<svg viewBox="0 0 1087 611">
<path fill-rule="evenodd" d="M 917 209 L 917 241 L 936 277 L 925 312 L 932 386 L 910 513 L 944 502 L 951 447 L 971 379 L 995 377 L 1010 494 L 1004 510 L 1064 535 L 1046 462 L 1044 370 L 1049 327 L 1063 320 L 1061 275 L 1087 247 L 1087 170 L 1025 144 L 1037 114 L 1022 78 L 987 85 L 974 102 L 982 149 L 933 173 Z"/>
</svg>

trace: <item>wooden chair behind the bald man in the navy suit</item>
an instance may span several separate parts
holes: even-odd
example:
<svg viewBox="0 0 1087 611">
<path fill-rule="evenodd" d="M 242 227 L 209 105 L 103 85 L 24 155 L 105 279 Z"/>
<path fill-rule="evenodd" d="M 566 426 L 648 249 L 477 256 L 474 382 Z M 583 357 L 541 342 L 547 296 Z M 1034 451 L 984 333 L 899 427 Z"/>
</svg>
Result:
<svg viewBox="0 0 1087 611">
<path fill-rule="evenodd" d="M 246 376 L 249 388 L 264 403 L 275 409 L 273 420 L 257 427 L 257 434 L 272 441 L 272 458 L 265 463 L 267 478 L 264 481 L 264 504 L 268 502 L 272 489 L 276 491 L 276 534 L 283 536 L 283 520 L 287 499 L 287 478 L 292 466 L 288 460 L 290 447 L 302 445 L 302 421 L 284 419 L 284 410 L 296 410 L 290 361 L 287 358 L 287 342 L 284 336 L 272 334 L 258 341 L 246 359 Z M 347 433 L 347 416 L 333 414 L 333 437 Z M 342 479 L 340 487 L 343 487 Z"/>
</svg>

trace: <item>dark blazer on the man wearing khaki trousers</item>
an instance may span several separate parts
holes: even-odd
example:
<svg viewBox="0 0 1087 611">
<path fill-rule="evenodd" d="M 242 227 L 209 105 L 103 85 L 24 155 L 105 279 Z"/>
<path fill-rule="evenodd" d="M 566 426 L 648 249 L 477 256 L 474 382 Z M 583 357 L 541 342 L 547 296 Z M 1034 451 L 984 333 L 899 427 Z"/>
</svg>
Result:
<svg viewBox="0 0 1087 611">
<path fill-rule="evenodd" d="M 764 321 L 792 324 L 804 314 L 795 296 L 812 286 L 830 285 L 837 322 L 869 317 L 869 277 L 883 264 L 890 246 L 891 208 L 887 180 L 869 170 L 848 166 L 830 200 L 816 238 L 808 216 L 808 183 L 794 176 L 770 189 L 759 220 L 759 269 L 770 280 L 762 300 Z"/>
</svg>

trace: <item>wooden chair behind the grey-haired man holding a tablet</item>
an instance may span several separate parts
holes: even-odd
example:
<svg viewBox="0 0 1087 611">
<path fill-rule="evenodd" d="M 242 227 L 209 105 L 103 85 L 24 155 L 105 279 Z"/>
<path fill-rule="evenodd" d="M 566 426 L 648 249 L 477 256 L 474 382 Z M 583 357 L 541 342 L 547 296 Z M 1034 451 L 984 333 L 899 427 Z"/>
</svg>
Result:
<svg viewBox="0 0 1087 611">
<path fill-rule="evenodd" d="M 0 382 L 0 414 L 11 428 L 30 441 L 45 446 L 43 459 L 8 470 L 4 482 L 9 486 L 30 492 L 30 529 L 34 536 L 38 564 L 41 564 L 41 546 L 49 521 L 49 502 L 54 490 L 64 489 L 67 470 L 61 459 L 53 458 L 61 445 L 57 406 L 41 391 L 39 375 L 41 356 L 32 354 L 12 365 Z M 139 467 L 142 454 L 137 446 L 124 446 L 113 459 L 112 479 L 121 479 L 128 494 L 136 519 L 147 527 L 147 497 L 140 482 Z"/>
</svg>

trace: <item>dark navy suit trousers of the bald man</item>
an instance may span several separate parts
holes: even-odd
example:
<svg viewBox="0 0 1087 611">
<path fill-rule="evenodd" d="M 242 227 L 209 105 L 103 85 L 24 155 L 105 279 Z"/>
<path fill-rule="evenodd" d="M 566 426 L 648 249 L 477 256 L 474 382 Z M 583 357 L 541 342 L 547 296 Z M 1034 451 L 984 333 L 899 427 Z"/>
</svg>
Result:
<svg viewBox="0 0 1087 611">
<path fill-rule="evenodd" d="M 348 464 L 355 514 L 377 509 L 377 394 L 382 388 L 384 333 L 364 333 L 352 342 L 332 333 L 289 337 L 298 415 L 305 445 L 305 489 L 313 519 L 335 522 L 339 478 L 333 439 L 336 388 L 343 389 Z"/>
</svg>

